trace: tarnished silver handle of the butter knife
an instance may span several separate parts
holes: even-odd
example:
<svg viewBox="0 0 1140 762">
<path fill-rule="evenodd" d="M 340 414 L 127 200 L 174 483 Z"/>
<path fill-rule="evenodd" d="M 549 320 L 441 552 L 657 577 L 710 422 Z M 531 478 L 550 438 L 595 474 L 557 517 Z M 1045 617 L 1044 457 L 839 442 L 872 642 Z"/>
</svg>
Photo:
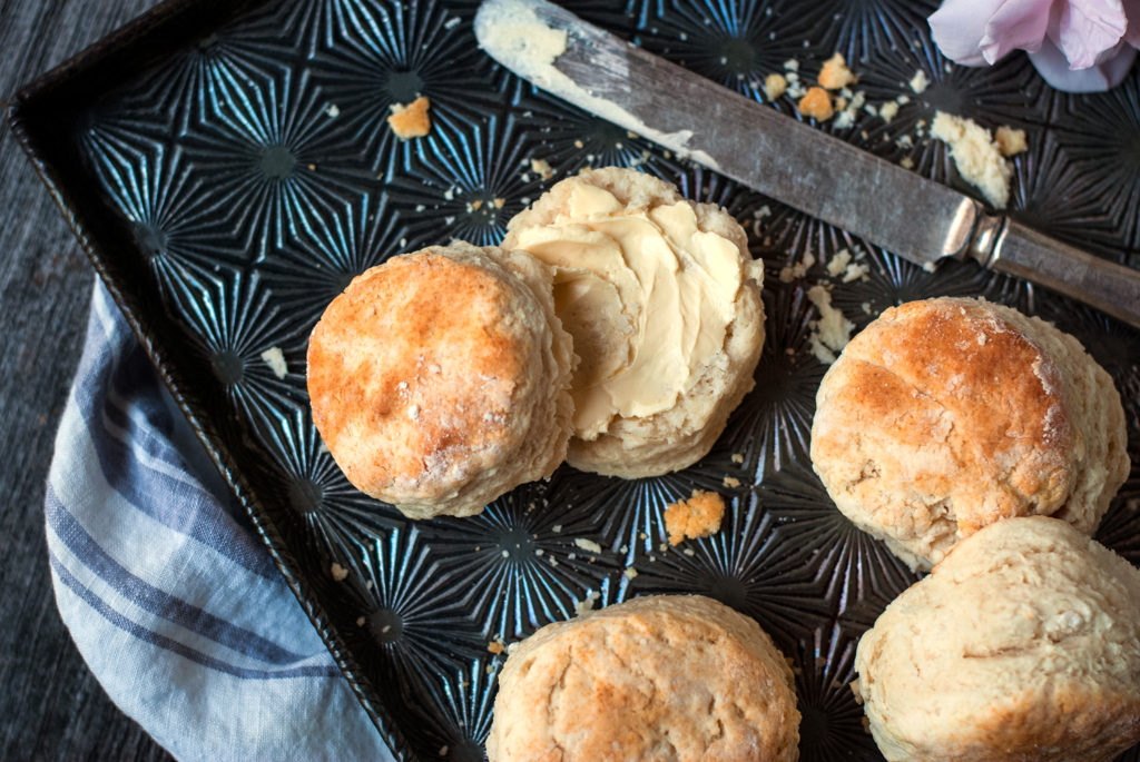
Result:
<svg viewBox="0 0 1140 762">
<path fill-rule="evenodd" d="M 993 219 L 993 218 L 991 218 Z M 997 272 L 1027 278 L 1140 328 L 1140 271 L 1096 257 L 1020 222 L 983 228 L 974 259 Z"/>
</svg>

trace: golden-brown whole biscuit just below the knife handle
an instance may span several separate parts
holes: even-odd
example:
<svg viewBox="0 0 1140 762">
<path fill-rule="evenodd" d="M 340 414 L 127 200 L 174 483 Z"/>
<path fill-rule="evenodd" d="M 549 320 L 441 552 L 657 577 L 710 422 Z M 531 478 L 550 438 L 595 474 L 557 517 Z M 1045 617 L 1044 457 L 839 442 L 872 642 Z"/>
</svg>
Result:
<svg viewBox="0 0 1140 762">
<path fill-rule="evenodd" d="M 1001 518 L 1091 534 L 1129 470 L 1109 375 L 1049 323 L 984 300 L 885 311 L 816 396 L 812 462 L 839 509 L 912 567 Z"/>
</svg>

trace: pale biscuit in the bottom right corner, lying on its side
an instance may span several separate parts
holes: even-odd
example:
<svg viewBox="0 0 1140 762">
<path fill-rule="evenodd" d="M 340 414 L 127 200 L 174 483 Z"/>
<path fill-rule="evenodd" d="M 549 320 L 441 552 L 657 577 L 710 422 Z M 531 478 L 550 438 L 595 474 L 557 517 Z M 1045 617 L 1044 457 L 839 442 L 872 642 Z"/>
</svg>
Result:
<svg viewBox="0 0 1140 762">
<path fill-rule="evenodd" d="M 863 636 L 888 760 L 1112 760 L 1140 741 L 1140 571 L 1043 516 L 963 540 Z"/>
</svg>

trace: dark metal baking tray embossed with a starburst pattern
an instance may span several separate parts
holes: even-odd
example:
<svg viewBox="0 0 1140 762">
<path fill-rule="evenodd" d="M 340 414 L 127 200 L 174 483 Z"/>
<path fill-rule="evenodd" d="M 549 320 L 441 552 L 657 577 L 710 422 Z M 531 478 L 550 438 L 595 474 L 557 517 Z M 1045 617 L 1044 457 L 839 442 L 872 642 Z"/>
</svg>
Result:
<svg viewBox="0 0 1140 762">
<path fill-rule="evenodd" d="M 870 104 L 906 103 L 890 122 L 860 112 L 849 128 L 819 129 L 894 161 L 909 157 L 914 171 L 967 192 L 944 147 L 922 138 L 935 109 L 1021 128 L 1029 150 L 1013 161 L 1012 215 L 1140 267 L 1138 72 L 1112 92 L 1073 96 L 1044 87 L 1020 55 L 990 69 L 951 66 L 923 22 L 934 2 L 567 5 L 762 101 L 764 75 L 789 59 L 809 81 L 841 51 Z M 968 263 L 926 272 L 678 161 L 494 64 L 474 42 L 475 7 L 173 0 L 30 84 L 10 113 L 398 756 L 482 759 L 504 658 L 488 650 L 494 639 L 518 640 L 586 600 L 701 592 L 755 617 L 793 659 L 803 759 L 879 759 L 847 687 L 854 649 L 917 577 L 833 508 L 811 469 L 814 394 L 826 369 L 809 350 L 816 314 L 806 289 L 817 282 L 833 285 L 833 303 L 857 327 L 893 304 L 964 294 L 1075 334 L 1113 375 L 1129 419 L 1132 475 L 1098 538 L 1140 564 L 1140 335 Z M 921 95 L 906 85 L 920 68 L 931 82 Z M 384 117 L 416 93 L 431 99 L 432 130 L 402 142 Z M 787 96 L 772 106 L 796 116 Z M 532 158 L 554 175 L 534 172 Z M 609 164 L 638 166 L 690 198 L 725 205 L 765 262 L 757 387 L 712 452 L 658 478 L 563 467 L 467 519 L 409 523 L 353 490 L 308 411 L 306 343 L 324 306 L 392 254 L 453 237 L 497 243 L 506 221 L 552 182 Z M 858 253 L 866 278 L 844 284 L 828 275 L 841 249 Z M 808 257 L 816 263 L 804 277 L 781 279 Z M 286 362 L 283 377 L 262 358 L 274 349 Z M 669 548 L 662 509 L 693 489 L 728 498 L 724 527 Z"/>
</svg>

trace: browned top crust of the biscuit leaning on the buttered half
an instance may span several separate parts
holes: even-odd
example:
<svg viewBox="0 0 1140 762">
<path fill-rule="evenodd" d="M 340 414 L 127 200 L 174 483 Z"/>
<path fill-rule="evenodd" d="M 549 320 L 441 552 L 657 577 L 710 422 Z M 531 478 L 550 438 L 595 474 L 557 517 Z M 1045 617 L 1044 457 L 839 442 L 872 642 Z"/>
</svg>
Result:
<svg viewBox="0 0 1140 762">
<path fill-rule="evenodd" d="M 358 489 L 446 494 L 494 467 L 530 354 L 511 297 L 494 270 L 427 249 L 358 276 L 329 304 L 309 343 L 309 394 Z"/>
</svg>

